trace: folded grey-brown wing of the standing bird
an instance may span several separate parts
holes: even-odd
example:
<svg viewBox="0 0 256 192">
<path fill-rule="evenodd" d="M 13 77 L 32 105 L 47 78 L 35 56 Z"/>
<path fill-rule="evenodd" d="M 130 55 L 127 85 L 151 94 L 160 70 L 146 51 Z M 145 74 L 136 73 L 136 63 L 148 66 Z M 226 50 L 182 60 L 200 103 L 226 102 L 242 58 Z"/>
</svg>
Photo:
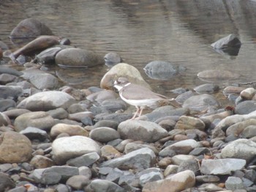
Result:
<svg viewBox="0 0 256 192">
<path fill-rule="evenodd" d="M 136 93 L 136 94 L 135 94 Z M 130 84 L 129 88 L 125 87 L 121 90 L 122 96 L 124 98 L 129 97 L 129 99 L 167 99 L 166 96 L 162 96 L 158 93 L 154 93 L 150 89 L 140 86 L 140 85 L 135 85 L 135 84 Z"/>
</svg>

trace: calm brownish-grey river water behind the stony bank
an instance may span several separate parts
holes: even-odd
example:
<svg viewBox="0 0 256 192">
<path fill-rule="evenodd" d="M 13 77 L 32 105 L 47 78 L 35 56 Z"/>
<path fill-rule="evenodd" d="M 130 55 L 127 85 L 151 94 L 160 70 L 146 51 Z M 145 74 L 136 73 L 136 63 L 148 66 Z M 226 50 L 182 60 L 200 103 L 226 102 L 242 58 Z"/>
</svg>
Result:
<svg viewBox="0 0 256 192">
<path fill-rule="evenodd" d="M 233 82 L 255 81 L 256 1 L 247 0 L 23 0 L 0 1 L 0 39 L 12 48 L 9 36 L 23 19 L 37 18 L 72 45 L 102 55 L 116 51 L 138 68 L 158 93 L 194 88 L 204 82 L 206 69 L 241 74 Z M 242 42 L 237 56 L 217 53 L 210 45 L 228 34 Z M 143 67 L 150 61 L 170 61 L 187 70 L 170 80 L 154 80 Z M 99 86 L 108 66 L 91 69 L 50 67 L 64 83 L 77 88 Z M 221 88 L 233 82 L 223 80 Z"/>
</svg>

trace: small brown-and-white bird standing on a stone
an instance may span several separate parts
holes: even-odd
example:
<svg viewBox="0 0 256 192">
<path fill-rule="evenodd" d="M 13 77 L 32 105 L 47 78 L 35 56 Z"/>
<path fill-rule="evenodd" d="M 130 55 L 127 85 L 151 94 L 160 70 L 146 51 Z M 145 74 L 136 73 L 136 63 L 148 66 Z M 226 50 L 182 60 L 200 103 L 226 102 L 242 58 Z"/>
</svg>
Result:
<svg viewBox="0 0 256 192">
<path fill-rule="evenodd" d="M 135 119 L 138 114 L 138 117 L 140 117 L 143 110 L 147 107 L 154 109 L 167 104 L 171 104 L 176 108 L 181 107 L 175 99 L 170 99 L 166 96 L 154 93 L 149 88 L 142 85 L 133 84 L 129 82 L 126 77 L 118 77 L 114 82 L 113 87 L 118 90 L 122 100 L 127 104 L 136 107 L 137 110 L 132 119 Z"/>
</svg>

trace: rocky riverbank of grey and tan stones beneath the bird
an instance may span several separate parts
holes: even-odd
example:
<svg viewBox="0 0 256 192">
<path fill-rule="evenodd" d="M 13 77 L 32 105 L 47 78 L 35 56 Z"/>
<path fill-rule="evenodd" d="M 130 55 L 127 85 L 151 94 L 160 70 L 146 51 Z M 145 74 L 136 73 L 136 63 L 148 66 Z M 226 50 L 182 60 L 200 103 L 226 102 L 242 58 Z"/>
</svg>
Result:
<svg viewBox="0 0 256 192">
<path fill-rule="evenodd" d="M 76 53 L 92 55 L 86 64 L 101 64 L 94 53 Z M 81 64 L 70 57 L 67 65 Z M 114 64 L 97 87 L 75 89 L 38 69 L 43 62 L 25 63 L 22 71 L 3 62 L 0 191 L 256 190 L 255 88 L 179 88 L 173 93 L 182 107 L 162 106 L 130 120 L 135 108 L 113 91 L 113 81 L 127 77 L 150 88 L 134 66 Z M 238 76 L 211 70 L 198 77 Z M 216 92 L 233 106 L 223 107 Z"/>
</svg>

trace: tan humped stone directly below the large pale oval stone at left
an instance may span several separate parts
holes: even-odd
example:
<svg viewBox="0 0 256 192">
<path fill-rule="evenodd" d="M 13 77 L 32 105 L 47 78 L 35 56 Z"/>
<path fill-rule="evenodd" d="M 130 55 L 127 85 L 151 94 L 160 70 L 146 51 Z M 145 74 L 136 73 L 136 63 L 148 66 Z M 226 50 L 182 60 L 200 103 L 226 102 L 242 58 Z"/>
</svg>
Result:
<svg viewBox="0 0 256 192">
<path fill-rule="evenodd" d="M 54 124 L 54 119 L 46 112 L 26 112 L 23 115 L 19 115 L 18 118 L 15 118 L 14 128 L 15 131 L 18 132 L 29 126 L 49 131 Z"/>
</svg>

